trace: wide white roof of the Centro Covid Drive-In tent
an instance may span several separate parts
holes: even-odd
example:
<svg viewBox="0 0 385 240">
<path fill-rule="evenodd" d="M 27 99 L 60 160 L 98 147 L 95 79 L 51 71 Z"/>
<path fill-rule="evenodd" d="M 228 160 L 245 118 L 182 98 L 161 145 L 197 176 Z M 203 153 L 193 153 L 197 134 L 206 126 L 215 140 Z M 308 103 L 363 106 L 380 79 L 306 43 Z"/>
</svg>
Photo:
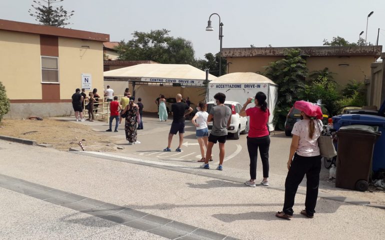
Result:
<svg viewBox="0 0 385 240">
<path fill-rule="evenodd" d="M 111 78 L 174 78 L 174 79 L 206 79 L 206 72 L 188 64 L 138 64 L 110 71 L 104 71 L 104 77 Z M 208 74 L 208 80 L 217 78 Z"/>
</svg>

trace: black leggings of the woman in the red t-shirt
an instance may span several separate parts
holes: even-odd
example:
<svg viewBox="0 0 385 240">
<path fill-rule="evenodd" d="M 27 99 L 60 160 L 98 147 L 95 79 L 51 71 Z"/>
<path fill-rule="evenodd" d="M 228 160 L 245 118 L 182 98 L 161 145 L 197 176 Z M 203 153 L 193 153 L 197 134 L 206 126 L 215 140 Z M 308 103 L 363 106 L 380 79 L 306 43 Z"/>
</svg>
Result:
<svg viewBox="0 0 385 240">
<path fill-rule="evenodd" d="M 261 137 L 247 136 L 247 150 L 250 157 L 250 178 L 256 178 L 256 160 L 258 158 L 258 148 L 260 159 L 262 160 L 263 177 L 268 177 L 268 148 L 270 146 L 269 135 Z"/>
</svg>

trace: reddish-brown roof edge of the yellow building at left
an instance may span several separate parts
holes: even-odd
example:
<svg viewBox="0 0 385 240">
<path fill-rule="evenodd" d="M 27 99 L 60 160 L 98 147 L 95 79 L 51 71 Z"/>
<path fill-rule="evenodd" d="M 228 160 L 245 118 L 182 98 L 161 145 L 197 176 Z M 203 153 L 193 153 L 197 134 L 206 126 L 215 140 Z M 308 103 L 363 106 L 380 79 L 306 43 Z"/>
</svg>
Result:
<svg viewBox="0 0 385 240">
<path fill-rule="evenodd" d="M 57 26 L 46 26 L 20 21 L 0 19 L 0 30 L 17 31 L 50 36 L 62 36 L 94 41 L 109 41 L 109 34 L 75 30 Z"/>
</svg>

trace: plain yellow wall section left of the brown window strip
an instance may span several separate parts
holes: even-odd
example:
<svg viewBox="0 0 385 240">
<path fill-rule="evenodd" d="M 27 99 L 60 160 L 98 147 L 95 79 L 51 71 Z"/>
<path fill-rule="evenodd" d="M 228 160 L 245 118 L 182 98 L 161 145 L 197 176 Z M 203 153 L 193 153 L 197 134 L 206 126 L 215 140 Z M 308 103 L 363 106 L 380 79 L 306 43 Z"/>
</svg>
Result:
<svg viewBox="0 0 385 240">
<path fill-rule="evenodd" d="M 9 99 L 41 99 L 40 36 L 0 30 L 0 72 Z"/>
</svg>

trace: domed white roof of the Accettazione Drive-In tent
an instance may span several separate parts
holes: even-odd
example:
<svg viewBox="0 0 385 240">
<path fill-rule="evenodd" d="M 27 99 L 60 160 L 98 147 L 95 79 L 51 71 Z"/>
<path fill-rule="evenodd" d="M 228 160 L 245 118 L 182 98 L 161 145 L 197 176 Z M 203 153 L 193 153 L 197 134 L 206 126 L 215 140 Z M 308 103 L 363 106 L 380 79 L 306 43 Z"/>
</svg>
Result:
<svg viewBox="0 0 385 240">
<path fill-rule="evenodd" d="M 254 72 L 233 72 L 233 73 L 228 73 L 225 75 L 221 75 L 217 77 L 216 79 L 210 81 L 210 83 L 271 83 L 275 84 L 272 80 L 269 78 L 254 73 Z"/>
</svg>

